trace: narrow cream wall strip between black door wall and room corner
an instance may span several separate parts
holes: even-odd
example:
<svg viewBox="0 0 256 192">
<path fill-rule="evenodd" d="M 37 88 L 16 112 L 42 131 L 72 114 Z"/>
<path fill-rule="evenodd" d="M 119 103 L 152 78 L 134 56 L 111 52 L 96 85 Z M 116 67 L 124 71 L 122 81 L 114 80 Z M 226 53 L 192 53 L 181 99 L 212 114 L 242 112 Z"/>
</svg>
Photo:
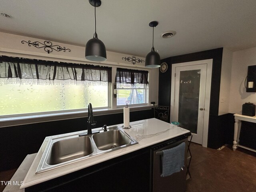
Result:
<svg viewBox="0 0 256 192">
<path fill-rule="evenodd" d="M 233 52 L 223 48 L 220 77 L 220 102 L 218 115 L 227 114 L 230 101 L 230 82 Z"/>
</svg>

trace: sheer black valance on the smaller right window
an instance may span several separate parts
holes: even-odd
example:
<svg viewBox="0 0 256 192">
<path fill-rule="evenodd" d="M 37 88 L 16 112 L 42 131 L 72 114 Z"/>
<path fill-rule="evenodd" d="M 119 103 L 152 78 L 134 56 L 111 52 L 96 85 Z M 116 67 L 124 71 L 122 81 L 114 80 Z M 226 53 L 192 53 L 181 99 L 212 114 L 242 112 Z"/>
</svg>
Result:
<svg viewBox="0 0 256 192">
<path fill-rule="evenodd" d="M 148 71 L 117 68 L 116 82 L 128 84 L 148 84 Z"/>
</svg>

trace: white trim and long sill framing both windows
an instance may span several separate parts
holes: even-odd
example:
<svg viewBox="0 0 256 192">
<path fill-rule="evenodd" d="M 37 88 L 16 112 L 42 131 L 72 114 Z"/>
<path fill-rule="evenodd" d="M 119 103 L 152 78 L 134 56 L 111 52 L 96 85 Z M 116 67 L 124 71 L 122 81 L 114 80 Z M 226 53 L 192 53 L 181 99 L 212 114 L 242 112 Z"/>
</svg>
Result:
<svg viewBox="0 0 256 192">
<path fill-rule="evenodd" d="M 34 58 L 34 57 L 33 57 Z M 34 58 L 36 59 L 36 58 Z M 40 58 L 42 59 L 42 58 Z M 62 60 L 62 62 L 74 62 L 75 60 Z M 79 63 L 83 63 L 82 61 Z M 87 64 L 88 62 L 84 62 Z M 114 83 L 116 77 L 116 68 L 126 68 L 126 69 L 140 69 L 148 71 L 148 82 L 151 82 L 151 73 L 150 69 L 144 68 L 143 66 L 127 66 L 119 64 L 101 64 L 101 63 L 90 63 L 97 66 L 110 66 L 112 67 L 112 83 L 108 86 L 108 107 L 94 108 L 94 115 L 106 115 L 106 114 L 115 114 L 122 113 L 123 107 L 125 106 L 116 106 L 116 98 L 114 98 Z M 148 85 L 148 104 L 132 104 L 129 105 L 130 111 L 140 111 L 148 110 L 153 108 L 150 104 L 151 102 L 151 90 L 152 83 Z M 88 117 L 88 108 L 84 109 L 73 109 L 73 110 L 59 110 L 59 111 L 48 111 L 48 112 L 36 112 L 36 113 L 26 113 L 26 114 L 12 114 L 12 115 L 3 115 L 0 116 L 0 128 L 8 126 L 18 126 L 23 124 L 33 124 L 39 122 L 49 122 L 56 120 L 67 120 L 72 118 L 87 118 Z"/>
</svg>

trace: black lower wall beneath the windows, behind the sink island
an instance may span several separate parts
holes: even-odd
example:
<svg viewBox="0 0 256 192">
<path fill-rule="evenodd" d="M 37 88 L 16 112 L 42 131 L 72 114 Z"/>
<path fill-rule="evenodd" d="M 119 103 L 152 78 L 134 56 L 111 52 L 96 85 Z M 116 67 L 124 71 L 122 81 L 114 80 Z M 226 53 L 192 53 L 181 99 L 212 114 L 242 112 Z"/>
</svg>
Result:
<svg viewBox="0 0 256 192">
<path fill-rule="evenodd" d="M 130 122 L 154 118 L 154 111 L 130 112 Z M 123 123 L 123 113 L 94 116 L 97 127 Z M 0 128 L 0 171 L 18 168 L 27 154 L 38 152 L 44 138 L 87 129 L 87 118 Z"/>
</svg>

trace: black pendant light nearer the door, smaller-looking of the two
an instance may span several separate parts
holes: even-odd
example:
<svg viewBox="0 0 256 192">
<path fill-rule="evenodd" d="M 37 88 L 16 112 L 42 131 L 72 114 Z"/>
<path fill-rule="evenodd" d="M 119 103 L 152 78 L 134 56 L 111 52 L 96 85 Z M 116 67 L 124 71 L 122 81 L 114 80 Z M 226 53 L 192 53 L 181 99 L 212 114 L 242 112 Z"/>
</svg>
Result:
<svg viewBox="0 0 256 192">
<path fill-rule="evenodd" d="M 151 52 L 149 52 L 146 56 L 146 61 L 145 61 L 146 68 L 160 67 L 160 55 L 158 54 L 158 52 L 155 51 L 155 48 L 154 48 L 154 27 L 156 27 L 157 25 L 158 25 L 157 21 L 152 21 L 149 23 L 149 26 L 153 28 L 153 43 L 152 43 Z"/>
</svg>

